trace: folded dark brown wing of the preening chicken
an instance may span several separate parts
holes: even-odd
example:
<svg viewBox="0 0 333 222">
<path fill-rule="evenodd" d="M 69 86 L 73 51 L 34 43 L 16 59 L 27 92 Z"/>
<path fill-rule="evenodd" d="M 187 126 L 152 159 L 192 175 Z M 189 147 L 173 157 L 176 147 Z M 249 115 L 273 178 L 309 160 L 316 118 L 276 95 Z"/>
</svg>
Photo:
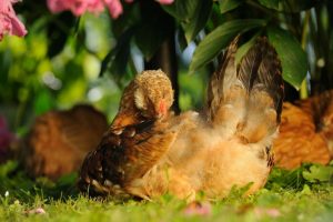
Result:
<svg viewBox="0 0 333 222">
<path fill-rule="evenodd" d="M 131 181 L 161 159 L 174 138 L 167 122 L 154 120 L 107 132 L 99 148 L 87 155 L 79 188 L 90 194 L 124 193 Z"/>
</svg>

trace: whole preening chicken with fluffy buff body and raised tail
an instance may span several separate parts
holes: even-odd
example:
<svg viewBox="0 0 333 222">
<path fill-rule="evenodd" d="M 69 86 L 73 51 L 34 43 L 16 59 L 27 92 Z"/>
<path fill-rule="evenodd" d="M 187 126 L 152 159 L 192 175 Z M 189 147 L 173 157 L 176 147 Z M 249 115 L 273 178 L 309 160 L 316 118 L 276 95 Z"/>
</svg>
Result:
<svg viewBox="0 0 333 222">
<path fill-rule="evenodd" d="M 115 123 L 128 121 L 113 121 L 117 127 L 110 127 L 98 149 L 83 162 L 80 189 L 90 194 L 142 199 L 169 192 L 191 200 L 199 191 L 206 198 L 223 198 L 233 185 L 252 183 L 248 193 L 263 186 L 273 165 L 271 145 L 280 123 L 281 65 L 265 38 L 259 38 L 240 64 L 235 64 L 236 49 L 238 38 L 212 75 L 204 113 L 190 111 L 160 119 L 157 114 L 144 115 L 145 110 L 140 108 L 157 113 L 155 108 L 168 110 L 171 102 L 160 105 L 161 100 L 154 99 L 150 108 L 140 105 L 140 101 L 148 100 L 127 89 L 123 98 L 129 100 L 122 100 L 121 107 L 128 104 L 134 111 L 124 119 L 141 121 L 121 127 Z M 168 82 L 168 97 L 172 98 L 169 80 L 157 78 Z M 130 89 L 132 84 L 137 85 L 138 79 Z M 165 89 L 161 85 L 157 88 L 151 82 L 144 87 L 161 98 Z M 149 90 L 141 91 L 139 95 L 152 97 L 145 93 Z"/>
</svg>

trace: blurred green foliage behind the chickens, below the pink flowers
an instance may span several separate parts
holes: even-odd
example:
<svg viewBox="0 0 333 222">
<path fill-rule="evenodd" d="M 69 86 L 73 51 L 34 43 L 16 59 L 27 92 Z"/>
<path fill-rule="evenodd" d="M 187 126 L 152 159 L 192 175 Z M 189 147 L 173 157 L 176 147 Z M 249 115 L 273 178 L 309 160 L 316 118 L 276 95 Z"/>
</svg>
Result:
<svg viewBox="0 0 333 222">
<path fill-rule="evenodd" d="M 14 9 L 29 33 L 0 42 L 0 113 L 27 132 L 36 115 L 92 103 L 112 120 L 122 89 L 143 69 L 162 68 L 175 110 L 200 109 L 222 50 L 244 36 L 240 59 L 266 36 L 282 61 L 286 100 L 333 88 L 333 1 L 153 0 L 122 2 L 123 13 L 52 14 L 46 0 Z M 300 90 L 296 91 L 295 89 Z"/>
</svg>

